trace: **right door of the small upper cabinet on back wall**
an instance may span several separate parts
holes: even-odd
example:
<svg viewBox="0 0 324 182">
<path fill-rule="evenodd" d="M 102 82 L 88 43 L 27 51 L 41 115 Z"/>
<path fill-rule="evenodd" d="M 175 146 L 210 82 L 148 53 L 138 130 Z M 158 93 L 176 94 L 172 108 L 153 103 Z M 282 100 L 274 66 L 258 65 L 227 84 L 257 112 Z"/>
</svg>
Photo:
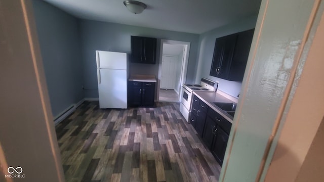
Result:
<svg viewBox="0 0 324 182">
<path fill-rule="evenodd" d="M 143 63 L 155 64 L 156 38 L 147 38 L 144 40 Z"/>
</svg>

